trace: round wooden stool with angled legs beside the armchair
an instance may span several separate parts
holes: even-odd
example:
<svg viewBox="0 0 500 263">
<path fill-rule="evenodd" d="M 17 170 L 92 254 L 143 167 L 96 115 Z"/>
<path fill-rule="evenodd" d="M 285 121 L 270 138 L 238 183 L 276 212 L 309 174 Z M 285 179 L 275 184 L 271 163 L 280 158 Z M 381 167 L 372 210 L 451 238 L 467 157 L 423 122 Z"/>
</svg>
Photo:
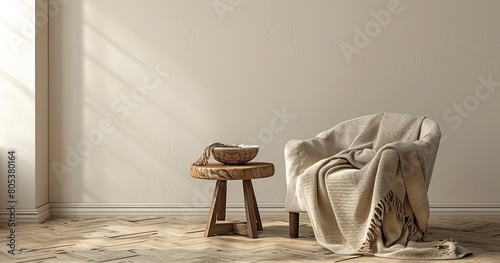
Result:
<svg viewBox="0 0 500 263">
<path fill-rule="evenodd" d="M 205 236 L 235 233 L 258 238 L 258 231 L 262 231 L 259 208 L 252 186 L 252 179 L 270 177 L 274 174 L 272 163 L 252 162 L 242 165 L 225 165 L 209 163 L 205 166 L 191 165 L 190 174 L 194 178 L 217 180 L 214 196 L 205 228 Z M 226 219 L 226 192 L 227 180 L 243 180 L 243 195 L 247 222 L 217 223 Z"/>
</svg>

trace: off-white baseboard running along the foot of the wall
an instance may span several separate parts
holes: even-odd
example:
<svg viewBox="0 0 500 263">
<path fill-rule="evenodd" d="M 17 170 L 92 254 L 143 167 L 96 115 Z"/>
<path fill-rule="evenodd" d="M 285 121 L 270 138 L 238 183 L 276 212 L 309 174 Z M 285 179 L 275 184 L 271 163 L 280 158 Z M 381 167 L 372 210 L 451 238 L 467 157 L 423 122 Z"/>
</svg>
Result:
<svg viewBox="0 0 500 263">
<path fill-rule="evenodd" d="M 430 207 L 431 217 L 500 217 L 500 203 L 432 203 Z M 50 203 L 16 211 L 16 223 L 41 223 L 50 217 L 207 216 L 209 210 L 210 204 Z M 288 214 L 282 203 L 259 204 L 259 212 L 266 216 Z M 7 222 L 8 213 L 0 212 L 0 222 Z M 227 213 L 243 215 L 245 207 L 228 203 Z"/>
</svg>

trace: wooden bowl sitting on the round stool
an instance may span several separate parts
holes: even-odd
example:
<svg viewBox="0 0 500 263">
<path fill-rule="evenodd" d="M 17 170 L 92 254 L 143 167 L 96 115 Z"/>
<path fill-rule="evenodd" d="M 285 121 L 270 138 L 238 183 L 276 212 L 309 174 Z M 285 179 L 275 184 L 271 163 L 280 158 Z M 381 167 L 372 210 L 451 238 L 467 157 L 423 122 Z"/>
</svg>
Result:
<svg viewBox="0 0 500 263">
<path fill-rule="evenodd" d="M 215 160 L 223 164 L 244 164 L 247 163 L 259 152 L 258 145 L 230 145 L 229 147 L 214 147 L 212 155 Z"/>
</svg>

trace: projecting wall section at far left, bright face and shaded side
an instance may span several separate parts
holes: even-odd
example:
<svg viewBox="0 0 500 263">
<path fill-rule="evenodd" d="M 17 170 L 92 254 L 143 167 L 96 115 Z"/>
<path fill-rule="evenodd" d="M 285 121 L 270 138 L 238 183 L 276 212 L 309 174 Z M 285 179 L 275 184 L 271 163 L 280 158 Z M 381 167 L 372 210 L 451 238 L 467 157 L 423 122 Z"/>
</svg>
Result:
<svg viewBox="0 0 500 263">
<path fill-rule="evenodd" d="M 0 9 L 0 218 L 12 218 L 8 151 L 16 152 L 19 222 L 49 217 L 47 1 L 8 0 Z M 12 178 L 9 178 L 12 179 Z"/>
</svg>

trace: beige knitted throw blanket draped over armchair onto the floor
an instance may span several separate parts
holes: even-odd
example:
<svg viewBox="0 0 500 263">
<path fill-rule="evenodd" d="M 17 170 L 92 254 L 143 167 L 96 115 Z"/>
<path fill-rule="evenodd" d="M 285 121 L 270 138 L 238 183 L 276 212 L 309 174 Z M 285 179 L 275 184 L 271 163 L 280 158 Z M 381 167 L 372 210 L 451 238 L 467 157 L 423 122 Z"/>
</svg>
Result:
<svg viewBox="0 0 500 263">
<path fill-rule="evenodd" d="M 377 115 L 349 149 L 300 176 L 300 194 L 322 246 L 339 254 L 400 259 L 453 259 L 470 253 L 451 240 L 426 240 L 424 171 L 430 147 L 417 140 L 423 119 Z"/>
</svg>

